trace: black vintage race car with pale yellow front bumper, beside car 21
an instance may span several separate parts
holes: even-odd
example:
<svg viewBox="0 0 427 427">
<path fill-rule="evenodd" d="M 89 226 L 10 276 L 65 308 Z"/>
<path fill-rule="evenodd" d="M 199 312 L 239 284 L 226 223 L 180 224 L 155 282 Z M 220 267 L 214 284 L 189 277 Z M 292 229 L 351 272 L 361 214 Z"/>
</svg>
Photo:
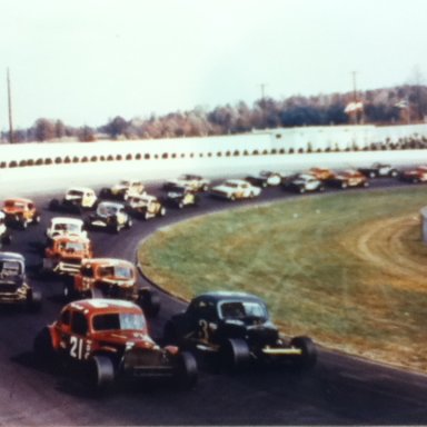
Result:
<svg viewBox="0 0 427 427">
<path fill-rule="evenodd" d="M 308 337 L 284 338 L 271 322 L 265 302 L 250 294 L 216 291 L 196 297 L 187 310 L 165 325 L 167 344 L 217 355 L 228 369 L 251 361 L 290 361 L 309 368 L 317 351 Z"/>
</svg>

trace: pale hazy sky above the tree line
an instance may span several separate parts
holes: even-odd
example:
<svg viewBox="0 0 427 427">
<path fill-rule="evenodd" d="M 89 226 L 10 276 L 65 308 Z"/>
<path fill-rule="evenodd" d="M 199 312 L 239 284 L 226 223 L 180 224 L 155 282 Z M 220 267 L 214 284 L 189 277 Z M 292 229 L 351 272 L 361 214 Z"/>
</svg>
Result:
<svg viewBox="0 0 427 427">
<path fill-rule="evenodd" d="M 427 0 L 0 0 L 0 130 L 424 81 Z"/>
</svg>

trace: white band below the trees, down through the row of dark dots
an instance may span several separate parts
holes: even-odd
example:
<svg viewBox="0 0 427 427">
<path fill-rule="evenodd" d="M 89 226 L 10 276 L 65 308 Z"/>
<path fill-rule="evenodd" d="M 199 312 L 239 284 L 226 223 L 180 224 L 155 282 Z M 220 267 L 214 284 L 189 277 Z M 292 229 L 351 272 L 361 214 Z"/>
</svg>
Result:
<svg viewBox="0 0 427 427">
<path fill-rule="evenodd" d="M 238 136 L 156 140 L 0 145 L 0 168 L 96 161 L 200 159 L 384 148 L 426 138 L 427 125 L 329 126 L 272 129 Z"/>
</svg>

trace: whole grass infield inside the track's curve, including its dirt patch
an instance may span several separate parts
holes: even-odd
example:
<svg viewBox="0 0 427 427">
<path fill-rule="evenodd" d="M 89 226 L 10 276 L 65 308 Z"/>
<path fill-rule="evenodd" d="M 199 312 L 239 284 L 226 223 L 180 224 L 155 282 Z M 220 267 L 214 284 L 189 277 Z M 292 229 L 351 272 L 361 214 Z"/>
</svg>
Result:
<svg viewBox="0 0 427 427">
<path fill-rule="evenodd" d="M 414 187 L 242 207 L 161 229 L 138 257 L 185 299 L 257 294 L 286 335 L 426 373 L 424 206 Z"/>
</svg>

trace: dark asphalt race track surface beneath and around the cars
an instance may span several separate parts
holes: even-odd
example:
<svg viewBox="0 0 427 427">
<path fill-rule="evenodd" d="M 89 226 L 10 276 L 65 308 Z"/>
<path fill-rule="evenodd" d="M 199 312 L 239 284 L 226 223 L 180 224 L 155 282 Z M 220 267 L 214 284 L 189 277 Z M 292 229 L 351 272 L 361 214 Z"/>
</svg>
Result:
<svg viewBox="0 0 427 427">
<path fill-rule="evenodd" d="M 371 182 L 373 188 L 396 185 L 391 179 Z M 149 192 L 159 191 L 158 185 L 153 189 L 148 187 Z M 12 230 L 13 241 L 3 248 L 23 254 L 30 267 L 41 261 L 40 242 L 44 241 L 43 232 L 54 215 L 46 206 L 53 196 L 36 197 L 37 205 L 44 207 L 41 224 L 24 231 Z M 270 188 L 256 201 L 236 205 L 203 196 L 198 208 L 169 209 L 165 218 L 147 222 L 136 220 L 130 230 L 119 235 L 90 231 L 90 236 L 96 256 L 135 261 L 140 239 L 158 227 L 212 210 L 286 197 L 310 196 L 294 196 Z M 201 366 L 199 384 L 190 391 L 180 391 L 170 384 L 147 384 L 139 388 L 118 386 L 101 398 L 91 396 L 70 376 L 34 363 L 33 337 L 57 317 L 62 301 L 60 280 L 40 280 L 31 272 L 30 280 L 43 291 L 42 311 L 34 315 L 2 309 L 0 312 L 0 425 L 427 424 L 427 376 L 325 349 L 320 350 L 318 365 L 309 373 L 282 368 L 230 375 Z M 161 312 L 150 325 L 155 339 L 161 336 L 166 319 L 185 307 L 166 294 L 161 295 Z"/>
</svg>

